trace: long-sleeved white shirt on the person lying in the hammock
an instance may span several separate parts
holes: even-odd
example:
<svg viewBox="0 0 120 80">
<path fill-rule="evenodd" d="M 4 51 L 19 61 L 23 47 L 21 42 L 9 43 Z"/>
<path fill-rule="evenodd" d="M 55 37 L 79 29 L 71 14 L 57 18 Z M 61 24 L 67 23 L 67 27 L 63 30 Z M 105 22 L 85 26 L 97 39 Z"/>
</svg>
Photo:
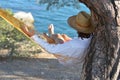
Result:
<svg viewBox="0 0 120 80">
<path fill-rule="evenodd" d="M 73 38 L 63 44 L 49 44 L 37 35 L 31 38 L 46 51 L 55 55 L 58 61 L 63 65 L 72 65 L 73 63 L 82 62 L 86 55 L 85 51 L 91 40 L 91 38 L 85 38 L 83 40 L 81 38 Z"/>
</svg>

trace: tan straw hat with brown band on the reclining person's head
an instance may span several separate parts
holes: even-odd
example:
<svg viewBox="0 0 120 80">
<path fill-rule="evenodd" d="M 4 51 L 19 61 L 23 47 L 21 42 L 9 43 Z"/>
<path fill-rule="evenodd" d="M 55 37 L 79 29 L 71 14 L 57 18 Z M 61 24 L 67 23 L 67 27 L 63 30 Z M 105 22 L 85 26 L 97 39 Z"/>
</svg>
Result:
<svg viewBox="0 0 120 80">
<path fill-rule="evenodd" d="M 79 12 L 78 15 L 69 17 L 68 24 L 82 33 L 92 33 L 95 29 L 91 24 L 90 15 L 84 11 Z"/>
</svg>

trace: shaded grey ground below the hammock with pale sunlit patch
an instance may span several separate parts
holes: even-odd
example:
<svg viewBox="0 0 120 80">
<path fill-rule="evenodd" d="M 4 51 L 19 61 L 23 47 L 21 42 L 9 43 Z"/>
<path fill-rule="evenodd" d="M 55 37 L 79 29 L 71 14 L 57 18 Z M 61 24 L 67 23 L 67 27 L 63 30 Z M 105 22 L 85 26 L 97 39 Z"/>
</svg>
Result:
<svg viewBox="0 0 120 80">
<path fill-rule="evenodd" d="M 1 57 L 0 80 L 80 80 L 81 65 L 65 67 L 47 53 L 29 58 Z"/>
</svg>

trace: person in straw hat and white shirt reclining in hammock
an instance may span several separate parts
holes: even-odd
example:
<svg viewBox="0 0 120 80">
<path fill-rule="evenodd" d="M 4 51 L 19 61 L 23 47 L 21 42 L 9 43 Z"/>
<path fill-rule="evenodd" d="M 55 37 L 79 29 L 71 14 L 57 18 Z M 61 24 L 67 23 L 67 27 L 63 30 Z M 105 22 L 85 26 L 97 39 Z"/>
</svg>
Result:
<svg viewBox="0 0 120 80">
<path fill-rule="evenodd" d="M 47 39 L 46 42 L 45 40 L 39 38 L 34 31 L 27 30 L 26 28 L 22 28 L 22 30 L 46 51 L 53 54 L 61 64 L 72 65 L 74 63 L 76 64 L 78 62 L 82 62 L 86 55 L 87 48 L 92 38 L 92 33 L 95 29 L 91 24 L 90 19 L 91 16 L 84 11 L 69 17 L 68 24 L 77 30 L 78 37 L 73 39 L 69 38 L 68 41 L 64 41 L 63 37 L 57 37 L 63 40 L 63 42 L 56 44 L 49 43 L 49 40 L 54 39 L 53 37 L 51 38 L 47 35 L 44 35 Z M 54 30 L 51 29 L 51 31 Z M 54 32 L 51 32 L 50 34 L 52 35 Z M 54 41 L 55 39 L 53 42 Z"/>
</svg>

